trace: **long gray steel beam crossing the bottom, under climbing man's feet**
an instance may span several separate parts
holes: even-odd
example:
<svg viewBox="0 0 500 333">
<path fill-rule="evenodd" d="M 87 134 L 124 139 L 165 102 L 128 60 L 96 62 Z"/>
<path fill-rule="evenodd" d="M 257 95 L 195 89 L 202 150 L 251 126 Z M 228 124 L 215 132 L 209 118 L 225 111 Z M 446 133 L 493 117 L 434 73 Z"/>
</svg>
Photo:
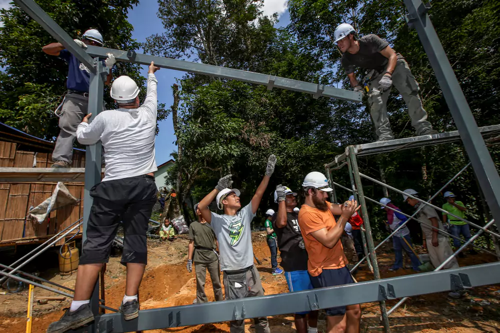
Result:
<svg viewBox="0 0 500 333">
<path fill-rule="evenodd" d="M 378 302 L 499 282 L 500 263 L 491 263 L 295 293 L 148 309 L 139 311 L 138 319 L 127 322 L 121 314 L 106 314 L 96 318 L 97 332 L 135 332 L 219 323 Z"/>
</svg>

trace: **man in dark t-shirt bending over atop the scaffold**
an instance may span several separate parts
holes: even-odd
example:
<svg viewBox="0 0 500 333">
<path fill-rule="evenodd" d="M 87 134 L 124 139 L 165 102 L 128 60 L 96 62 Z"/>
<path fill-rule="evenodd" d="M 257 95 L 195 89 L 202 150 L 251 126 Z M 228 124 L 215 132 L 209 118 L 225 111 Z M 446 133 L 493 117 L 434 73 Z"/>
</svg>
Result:
<svg viewBox="0 0 500 333">
<path fill-rule="evenodd" d="M 436 134 L 427 121 L 427 112 L 418 95 L 418 83 L 403 56 L 374 34 L 361 38 L 356 38 L 355 34 L 352 25 L 341 23 L 334 31 L 334 43 L 342 52 L 341 64 L 354 91 L 366 92 L 363 83 L 356 78 L 356 67 L 369 72 L 366 87 L 377 141 L 394 139 L 387 115 L 387 98 L 392 85 L 403 97 L 416 134 Z"/>
</svg>

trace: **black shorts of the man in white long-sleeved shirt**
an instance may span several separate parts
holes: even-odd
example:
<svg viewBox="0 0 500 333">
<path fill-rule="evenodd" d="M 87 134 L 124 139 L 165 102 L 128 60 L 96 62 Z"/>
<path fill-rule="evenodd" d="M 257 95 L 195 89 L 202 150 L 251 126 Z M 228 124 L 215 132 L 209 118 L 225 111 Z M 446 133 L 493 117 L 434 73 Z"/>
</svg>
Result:
<svg viewBox="0 0 500 333">
<path fill-rule="evenodd" d="M 107 263 L 119 222 L 123 222 L 121 264 L 147 264 L 146 231 L 156 203 L 152 176 L 100 182 L 92 187 L 92 208 L 79 264 Z"/>
</svg>

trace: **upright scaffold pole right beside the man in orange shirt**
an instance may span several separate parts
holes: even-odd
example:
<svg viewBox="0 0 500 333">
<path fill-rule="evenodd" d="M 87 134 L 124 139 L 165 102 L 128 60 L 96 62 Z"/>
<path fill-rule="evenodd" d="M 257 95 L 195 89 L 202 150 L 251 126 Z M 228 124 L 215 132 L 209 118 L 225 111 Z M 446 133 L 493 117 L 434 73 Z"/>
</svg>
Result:
<svg viewBox="0 0 500 333">
<path fill-rule="evenodd" d="M 359 168 L 357 166 L 356 154 L 354 153 L 354 147 L 347 147 L 348 159 L 350 160 L 350 165 L 354 181 L 357 189 L 357 197 L 359 199 L 358 203 L 361 205 L 361 212 L 363 214 L 363 224 L 366 232 L 366 244 L 368 245 L 368 250 L 370 252 L 371 264 L 373 266 L 373 275 L 376 280 L 380 279 L 380 272 L 378 271 L 378 263 L 376 261 L 375 246 L 373 245 L 373 237 L 371 236 L 370 221 L 368 218 L 368 211 L 366 209 L 366 202 L 364 201 L 363 186 L 361 184 L 361 177 L 359 176 Z M 354 192 L 356 196 L 356 192 Z M 382 325 L 385 332 L 390 332 L 389 318 L 387 317 L 387 308 L 385 307 L 385 301 L 380 301 L 380 313 L 382 315 Z"/>
</svg>

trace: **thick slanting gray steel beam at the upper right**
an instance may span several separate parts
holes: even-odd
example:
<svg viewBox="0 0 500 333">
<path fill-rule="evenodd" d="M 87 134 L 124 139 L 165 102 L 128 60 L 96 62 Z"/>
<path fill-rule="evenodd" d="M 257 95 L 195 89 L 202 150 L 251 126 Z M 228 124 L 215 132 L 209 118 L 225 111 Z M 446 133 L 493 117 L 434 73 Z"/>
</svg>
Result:
<svg viewBox="0 0 500 333">
<path fill-rule="evenodd" d="M 437 37 L 429 15 L 427 15 L 430 5 L 424 4 L 421 0 L 404 0 L 404 4 L 409 12 L 407 15 L 408 24 L 410 27 L 414 27 L 418 33 L 463 146 L 477 175 L 491 215 L 495 219 L 496 227 L 500 230 L 500 176 L 498 176 L 439 37 Z"/>
</svg>

